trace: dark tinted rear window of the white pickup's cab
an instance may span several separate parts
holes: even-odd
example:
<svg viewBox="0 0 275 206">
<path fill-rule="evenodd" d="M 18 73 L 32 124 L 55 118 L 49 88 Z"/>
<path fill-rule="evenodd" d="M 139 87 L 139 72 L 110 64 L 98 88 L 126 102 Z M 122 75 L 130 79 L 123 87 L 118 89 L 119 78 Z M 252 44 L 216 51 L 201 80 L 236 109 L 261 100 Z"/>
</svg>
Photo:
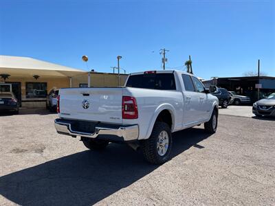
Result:
<svg viewBox="0 0 275 206">
<path fill-rule="evenodd" d="M 175 90 L 173 73 L 143 73 L 129 76 L 126 87 L 142 89 Z"/>
</svg>

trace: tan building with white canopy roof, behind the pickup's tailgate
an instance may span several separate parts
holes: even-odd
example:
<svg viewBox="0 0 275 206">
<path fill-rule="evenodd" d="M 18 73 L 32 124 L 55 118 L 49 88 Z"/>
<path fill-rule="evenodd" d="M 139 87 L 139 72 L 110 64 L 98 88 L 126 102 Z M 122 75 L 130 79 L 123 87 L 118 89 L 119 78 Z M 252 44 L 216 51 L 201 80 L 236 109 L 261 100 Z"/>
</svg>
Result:
<svg viewBox="0 0 275 206">
<path fill-rule="evenodd" d="M 52 89 L 88 87 L 88 84 L 90 87 L 118 87 L 124 85 L 127 77 L 120 74 L 118 78 L 116 73 L 88 73 L 34 58 L 0 56 L 0 84 L 11 84 L 21 106 L 28 108 L 45 108 L 47 94 Z"/>
</svg>

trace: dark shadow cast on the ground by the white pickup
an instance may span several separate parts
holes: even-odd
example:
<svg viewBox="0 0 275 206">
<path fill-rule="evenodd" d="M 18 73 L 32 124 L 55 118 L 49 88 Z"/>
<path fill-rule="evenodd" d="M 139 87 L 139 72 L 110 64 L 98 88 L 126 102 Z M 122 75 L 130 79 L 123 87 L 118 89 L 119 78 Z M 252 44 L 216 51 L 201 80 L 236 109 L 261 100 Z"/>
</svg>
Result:
<svg viewBox="0 0 275 206">
<path fill-rule="evenodd" d="M 173 134 L 173 157 L 210 135 L 202 128 Z M 0 177 L 0 194 L 19 205 L 93 205 L 157 169 L 141 152 L 111 144 L 85 150 Z"/>
</svg>

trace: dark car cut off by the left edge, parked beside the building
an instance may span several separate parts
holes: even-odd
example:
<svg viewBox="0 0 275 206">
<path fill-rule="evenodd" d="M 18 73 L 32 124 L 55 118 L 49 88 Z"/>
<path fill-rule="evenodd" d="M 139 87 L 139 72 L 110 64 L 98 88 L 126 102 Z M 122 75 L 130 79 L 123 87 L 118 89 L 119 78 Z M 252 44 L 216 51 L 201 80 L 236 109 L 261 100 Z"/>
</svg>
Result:
<svg viewBox="0 0 275 206">
<path fill-rule="evenodd" d="M 19 102 L 12 92 L 0 93 L 0 111 L 12 111 L 19 113 Z"/>
</svg>

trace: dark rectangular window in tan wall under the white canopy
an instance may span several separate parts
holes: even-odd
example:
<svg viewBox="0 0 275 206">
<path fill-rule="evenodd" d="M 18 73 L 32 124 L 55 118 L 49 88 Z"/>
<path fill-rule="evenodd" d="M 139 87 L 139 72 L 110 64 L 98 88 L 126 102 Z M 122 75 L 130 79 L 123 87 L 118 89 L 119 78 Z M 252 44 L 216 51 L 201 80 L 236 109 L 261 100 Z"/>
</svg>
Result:
<svg viewBox="0 0 275 206">
<path fill-rule="evenodd" d="M 26 82 L 26 98 L 46 98 L 46 82 Z"/>
</svg>

